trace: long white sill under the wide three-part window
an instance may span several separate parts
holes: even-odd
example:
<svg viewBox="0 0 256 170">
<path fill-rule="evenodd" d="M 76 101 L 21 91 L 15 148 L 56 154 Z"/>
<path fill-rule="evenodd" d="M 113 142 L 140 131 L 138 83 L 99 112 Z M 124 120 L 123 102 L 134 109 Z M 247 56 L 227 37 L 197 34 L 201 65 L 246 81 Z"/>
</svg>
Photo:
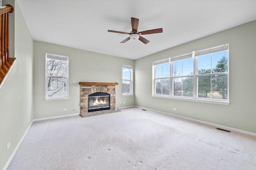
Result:
<svg viewBox="0 0 256 170">
<path fill-rule="evenodd" d="M 180 98 L 180 97 L 170 97 L 170 96 L 152 96 L 154 98 L 162 98 L 162 99 L 174 99 L 174 100 L 182 100 L 182 101 L 193 101 L 193 102 L 201 102 L 201 103 L 212 103 L 218 105 L 229 105 L 229 101 L 215 101 L 215 100 L 203 100 L 203 99 L 190 99 L 190 98 Z"/>
</svg>

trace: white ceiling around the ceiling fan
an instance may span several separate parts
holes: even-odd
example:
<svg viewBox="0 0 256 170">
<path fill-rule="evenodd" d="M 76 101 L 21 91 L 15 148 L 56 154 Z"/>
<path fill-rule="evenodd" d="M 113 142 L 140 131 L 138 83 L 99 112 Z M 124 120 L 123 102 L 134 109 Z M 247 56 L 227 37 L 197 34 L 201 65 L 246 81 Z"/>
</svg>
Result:
<svg viewBox="0 0 256 170">
<path fill-rule="evenodd" d="M 138 59 L 256 20 L 256 0 L 17 0 L 34 40 Z M 163 33 L 120 43 L 138 31 Z"/>
</svg>

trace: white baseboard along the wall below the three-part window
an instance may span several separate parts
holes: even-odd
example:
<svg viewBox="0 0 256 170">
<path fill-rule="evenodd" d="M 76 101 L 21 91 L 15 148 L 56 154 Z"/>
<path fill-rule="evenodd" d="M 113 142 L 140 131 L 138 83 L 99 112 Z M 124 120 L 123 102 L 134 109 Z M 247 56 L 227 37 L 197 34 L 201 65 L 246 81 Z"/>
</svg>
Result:
<svg viewBox="0 0 256 170">
<path fill-rule="evenodd" d="M 194 121 L 194 122 L 202 123 L 202 124 L 205 124 L 205 125 L 210 125 L 210 126 L 213 126 L 213 127 L 216 127 L 216 128 L 218 127 L 218 128 L 223 128 L 223 129 L 234 131 L 234 132 L 239 132 L 239 133 L 244 133 L 244 134 L 256 136 L 256 133 L 254 133 L 254 132 L 248 132 L 248 131 L 245 131 L 245 130 L 240 130 L 240 129 L 231 128 L 231 127 L 226 127 L 226 126 L 222 126 L 222 125 L 218 125 L 218 124 L 214 124 L 214 123 L 209 123 L 209 122 L 205 122 L 205 121 L 200 121 L 200 120 L 196 120 L 196 119 L 191 119 L 191 118 L 188 118 L 188 117 L 178 116 L 178 115 L 174 115 L 174 114 L 171 114 L 171 113 L 155 111 L 155 110 L 144 108 L 144 107 L 139 107 L 139 106 L 134 106 L 134 107 L 138 107 L 138 108 L 141 108 L 141 109 L 145 109 L 145 110 L 149 110 L 149 111 L 154 111 L 154 112 L 158 112 L 158 113 L 163 113 L 163 114 L 166 114 L 166 115 L 172 115 L 174 117 L 179 117 L 179 118 L 186 119 L 186 120 L 189 120 L 189 121 Z"/>
</svg>

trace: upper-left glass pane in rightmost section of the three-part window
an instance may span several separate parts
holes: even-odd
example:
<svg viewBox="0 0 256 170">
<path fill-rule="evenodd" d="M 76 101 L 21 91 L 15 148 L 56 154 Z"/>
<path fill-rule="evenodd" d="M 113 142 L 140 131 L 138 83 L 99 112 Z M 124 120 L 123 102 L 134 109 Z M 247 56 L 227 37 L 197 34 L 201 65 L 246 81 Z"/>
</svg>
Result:
<svg viewBox="0 0 256 170">
<path fill-rule="evenodd" d="M 212 73 L 211 54 L 198 57 L 198 74 Z"/>
</svg>

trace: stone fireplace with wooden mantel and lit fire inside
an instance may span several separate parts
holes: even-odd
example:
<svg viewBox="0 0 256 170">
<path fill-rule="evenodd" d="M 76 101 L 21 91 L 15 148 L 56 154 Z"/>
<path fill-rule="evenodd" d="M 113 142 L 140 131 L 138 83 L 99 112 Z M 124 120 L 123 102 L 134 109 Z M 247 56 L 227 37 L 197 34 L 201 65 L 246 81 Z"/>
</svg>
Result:
<svg viewBox="0 0 256 170">
<path fill-rule="evenodd" d="M 116 85 L 118 83 L 80 82 L 80 114 L 115 109 Z"/>
</svg>

